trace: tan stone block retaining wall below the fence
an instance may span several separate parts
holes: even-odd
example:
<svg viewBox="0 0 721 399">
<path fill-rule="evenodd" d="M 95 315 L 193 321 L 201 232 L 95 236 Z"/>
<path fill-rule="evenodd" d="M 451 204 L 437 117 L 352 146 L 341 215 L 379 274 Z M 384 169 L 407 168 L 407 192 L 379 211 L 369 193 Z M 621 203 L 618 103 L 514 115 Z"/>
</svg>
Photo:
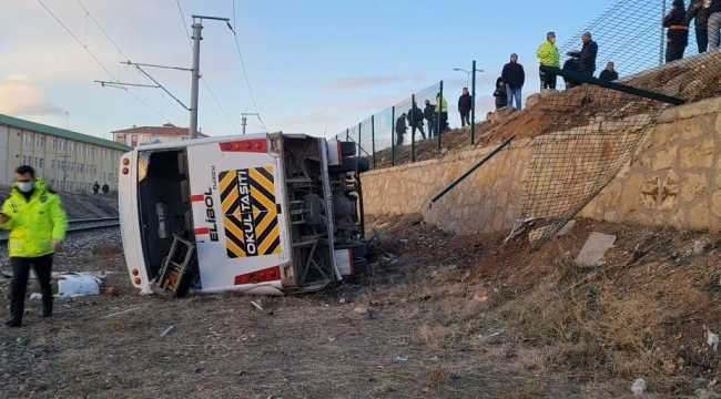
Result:
<svg viewBox="0 0 721 399">
<path fill-rule="evenodd" d="M 362 177 L 365 212 L 422 213 L 426 222 L 463 234 L 509 229 L 535 145 L 549 144 L 542 137 L 512 142 L 433 206 L 434 195 L 492 149 L 368 172 Z M 715 231 L 721 226 L 719 149 L 721 99 L 671 108 L 580 215 Z"/>
</svg>

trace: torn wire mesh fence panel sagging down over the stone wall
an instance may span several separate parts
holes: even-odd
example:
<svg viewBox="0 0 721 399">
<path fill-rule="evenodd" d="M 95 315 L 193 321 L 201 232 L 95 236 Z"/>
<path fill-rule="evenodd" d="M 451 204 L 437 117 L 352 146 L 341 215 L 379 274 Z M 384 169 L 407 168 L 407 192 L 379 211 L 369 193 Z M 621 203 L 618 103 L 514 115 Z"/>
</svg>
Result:
<svg viewBox="0 0 721 399">
<path fill-rule="evenodd" d="M 697 54 L 692 13 L 663 3 L 619 1 L 559 48 L 556 90 L 542 91 L 544 117 L 525 132 L 535 139 L 511 236 L 546 243 L 631 161 L 664 109 L 719 94 L 721 54 Z M 550 71 L 542 82 L 554 89 Z"/>
</svg>

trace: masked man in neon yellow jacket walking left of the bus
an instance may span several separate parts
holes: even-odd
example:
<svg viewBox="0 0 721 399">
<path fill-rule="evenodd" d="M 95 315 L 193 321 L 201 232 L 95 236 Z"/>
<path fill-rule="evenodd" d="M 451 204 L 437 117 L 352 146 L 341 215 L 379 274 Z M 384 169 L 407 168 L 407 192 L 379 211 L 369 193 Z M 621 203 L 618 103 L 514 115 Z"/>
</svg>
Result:
<svg viewBox="0 0 721 399">
<path fill-rule="evenodd" d="M 9 327 L 22 324 L 26 291 L 32 266 L 42 291 L 42 317 L 52 315 L 51 270 L 55 252 L 62 250 L 68 218 L 58 194 L 35 177 L 32 166 L 16 170 L 10 195 L 2 204 L 0 228 L 10 231 L 8 249 L 12 282 L 10 284 Z"/>
</svg>

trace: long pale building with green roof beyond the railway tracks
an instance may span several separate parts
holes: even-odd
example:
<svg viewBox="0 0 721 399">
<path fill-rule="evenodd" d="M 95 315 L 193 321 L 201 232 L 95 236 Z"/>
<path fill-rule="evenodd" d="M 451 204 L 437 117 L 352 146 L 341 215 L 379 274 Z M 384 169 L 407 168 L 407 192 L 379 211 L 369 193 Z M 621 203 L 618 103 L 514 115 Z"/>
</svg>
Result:
<svg viewBox="0 0 721 399">
<path fill-rule="evenodd" d="M 98 182 L 118 190 L 120 155 L 132 149 L 110 140 L 0 114 L 0 184 L 31 165 L 59 191 L 91 192 Z"/>
</svg>

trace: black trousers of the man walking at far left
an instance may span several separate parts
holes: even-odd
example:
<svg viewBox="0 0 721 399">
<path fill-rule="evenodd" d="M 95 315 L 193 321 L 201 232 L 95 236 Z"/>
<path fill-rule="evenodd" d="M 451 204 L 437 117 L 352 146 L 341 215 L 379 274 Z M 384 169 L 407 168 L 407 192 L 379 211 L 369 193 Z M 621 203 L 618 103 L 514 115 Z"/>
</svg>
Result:
<svg viewBox="0 0 721 399">
<path fill-rule="evenodd" d="M 10 283 L 10 315 L 19 320 L 26 308 L 26 293 L 28 291 L 28 278 L 30 277 L 30 266 L 35 269 L 40 291 L 42 293 L 42 307 L 52 307 L 52 270 L 53 254 L 43 255 L 35 258 L 11 257 L 10 267 L 12 268 L 12 282 Z"/>
</svg>

